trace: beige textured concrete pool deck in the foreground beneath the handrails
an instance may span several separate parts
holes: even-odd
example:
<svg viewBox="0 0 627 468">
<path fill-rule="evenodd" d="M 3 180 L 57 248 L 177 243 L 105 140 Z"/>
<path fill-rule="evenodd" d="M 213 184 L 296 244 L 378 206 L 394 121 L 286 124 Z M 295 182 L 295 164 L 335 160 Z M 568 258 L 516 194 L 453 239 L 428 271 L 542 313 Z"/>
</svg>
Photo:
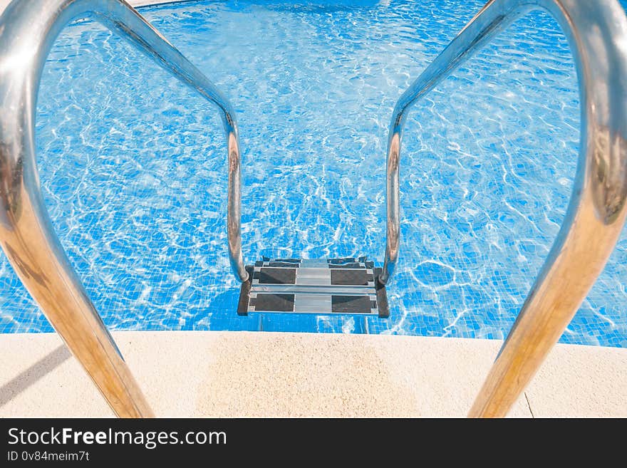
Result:
<svg viewBox="0 0 627 468">
<path fill-rule="evenodd" d="M 113 333 L 159 417 L 465 417 L 501 341 Z M 0 335 L 0 417 L 112 417 L 55 333 Z M 627 417 L 627 349 L 556 345 L 509 414 Z"/>
</svg>

